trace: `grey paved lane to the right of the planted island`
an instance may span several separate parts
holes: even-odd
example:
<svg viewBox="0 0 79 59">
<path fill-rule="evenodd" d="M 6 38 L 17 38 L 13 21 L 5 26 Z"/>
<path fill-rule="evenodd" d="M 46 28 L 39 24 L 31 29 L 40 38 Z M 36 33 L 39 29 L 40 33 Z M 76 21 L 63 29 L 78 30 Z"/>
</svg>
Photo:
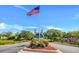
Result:
<svg viewBox="0 0 79 59">
<path fill-rule="evenodd" d="M 50 45 L 54 46 L 55 48 L 58 48 L 63 53 L 79 53 L 78 47 L 59 45 L 59 44 L 56 44 L 56 43 L 50 43 Z"/>
</svg>

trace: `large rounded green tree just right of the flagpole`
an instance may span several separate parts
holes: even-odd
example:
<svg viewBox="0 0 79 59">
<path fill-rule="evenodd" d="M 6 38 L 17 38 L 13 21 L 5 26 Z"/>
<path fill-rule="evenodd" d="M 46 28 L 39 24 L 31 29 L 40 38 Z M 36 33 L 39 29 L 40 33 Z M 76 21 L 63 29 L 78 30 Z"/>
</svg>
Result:
<svg viewBox="0 0 79 59">
<path fill-rule="evenodd" d="M 63 33 L 60 30 L 49 29 L 44 33 L 44 36 L 51 39 L 51 41 L 58 41 L 63 36 Z"/>
</svg>

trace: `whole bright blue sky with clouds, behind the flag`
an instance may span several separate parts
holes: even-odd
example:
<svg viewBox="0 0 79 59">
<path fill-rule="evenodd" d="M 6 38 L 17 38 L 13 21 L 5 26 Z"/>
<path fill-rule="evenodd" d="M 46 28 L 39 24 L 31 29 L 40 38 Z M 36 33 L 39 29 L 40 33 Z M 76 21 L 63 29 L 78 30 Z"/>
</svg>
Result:
<svg viewBox="0 0 79 59">
<path fill-rule="evenodd" d="M 36 5 L 0 5 L 0 32 L 34 29 L 79 30 L 79 6 L 41 5 L 40 13 L 27 16 Z"/>
</svg>

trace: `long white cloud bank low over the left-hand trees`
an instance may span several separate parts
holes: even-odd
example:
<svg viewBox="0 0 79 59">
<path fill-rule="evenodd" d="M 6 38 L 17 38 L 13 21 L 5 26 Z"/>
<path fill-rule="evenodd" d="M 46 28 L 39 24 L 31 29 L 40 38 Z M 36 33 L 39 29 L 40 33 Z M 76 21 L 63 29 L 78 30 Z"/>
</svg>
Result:
<svg viewBox="0 0 79 59">
<path fill-rule="evenodd" d="M 10 30 L 10 31 L 19 31 L 19 30 L 26 30 L 26 29 L 35 29 L 37 27 L 35 26 L 21 26 L 21 25 L 17 25 L 17 24 L 14 24 L 14 25 L 9 25 L 9 24 L 6 24 L 6 23 L 0 23 L 0 30 Z"/>
</svg>

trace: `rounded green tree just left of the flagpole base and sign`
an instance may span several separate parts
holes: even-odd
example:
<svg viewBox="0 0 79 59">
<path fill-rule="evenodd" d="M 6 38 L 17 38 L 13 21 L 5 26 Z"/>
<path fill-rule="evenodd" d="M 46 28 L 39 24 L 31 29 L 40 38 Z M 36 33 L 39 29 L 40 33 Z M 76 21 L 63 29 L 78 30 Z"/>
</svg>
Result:
<svg viewBox="0 0 79 59">
<path fill-rule="evenodd" d="M 16 33 L 16 40 L 31 40 L 34 35 L 32 32 L 22 30 L 20 33 Z"/>
</svg>

